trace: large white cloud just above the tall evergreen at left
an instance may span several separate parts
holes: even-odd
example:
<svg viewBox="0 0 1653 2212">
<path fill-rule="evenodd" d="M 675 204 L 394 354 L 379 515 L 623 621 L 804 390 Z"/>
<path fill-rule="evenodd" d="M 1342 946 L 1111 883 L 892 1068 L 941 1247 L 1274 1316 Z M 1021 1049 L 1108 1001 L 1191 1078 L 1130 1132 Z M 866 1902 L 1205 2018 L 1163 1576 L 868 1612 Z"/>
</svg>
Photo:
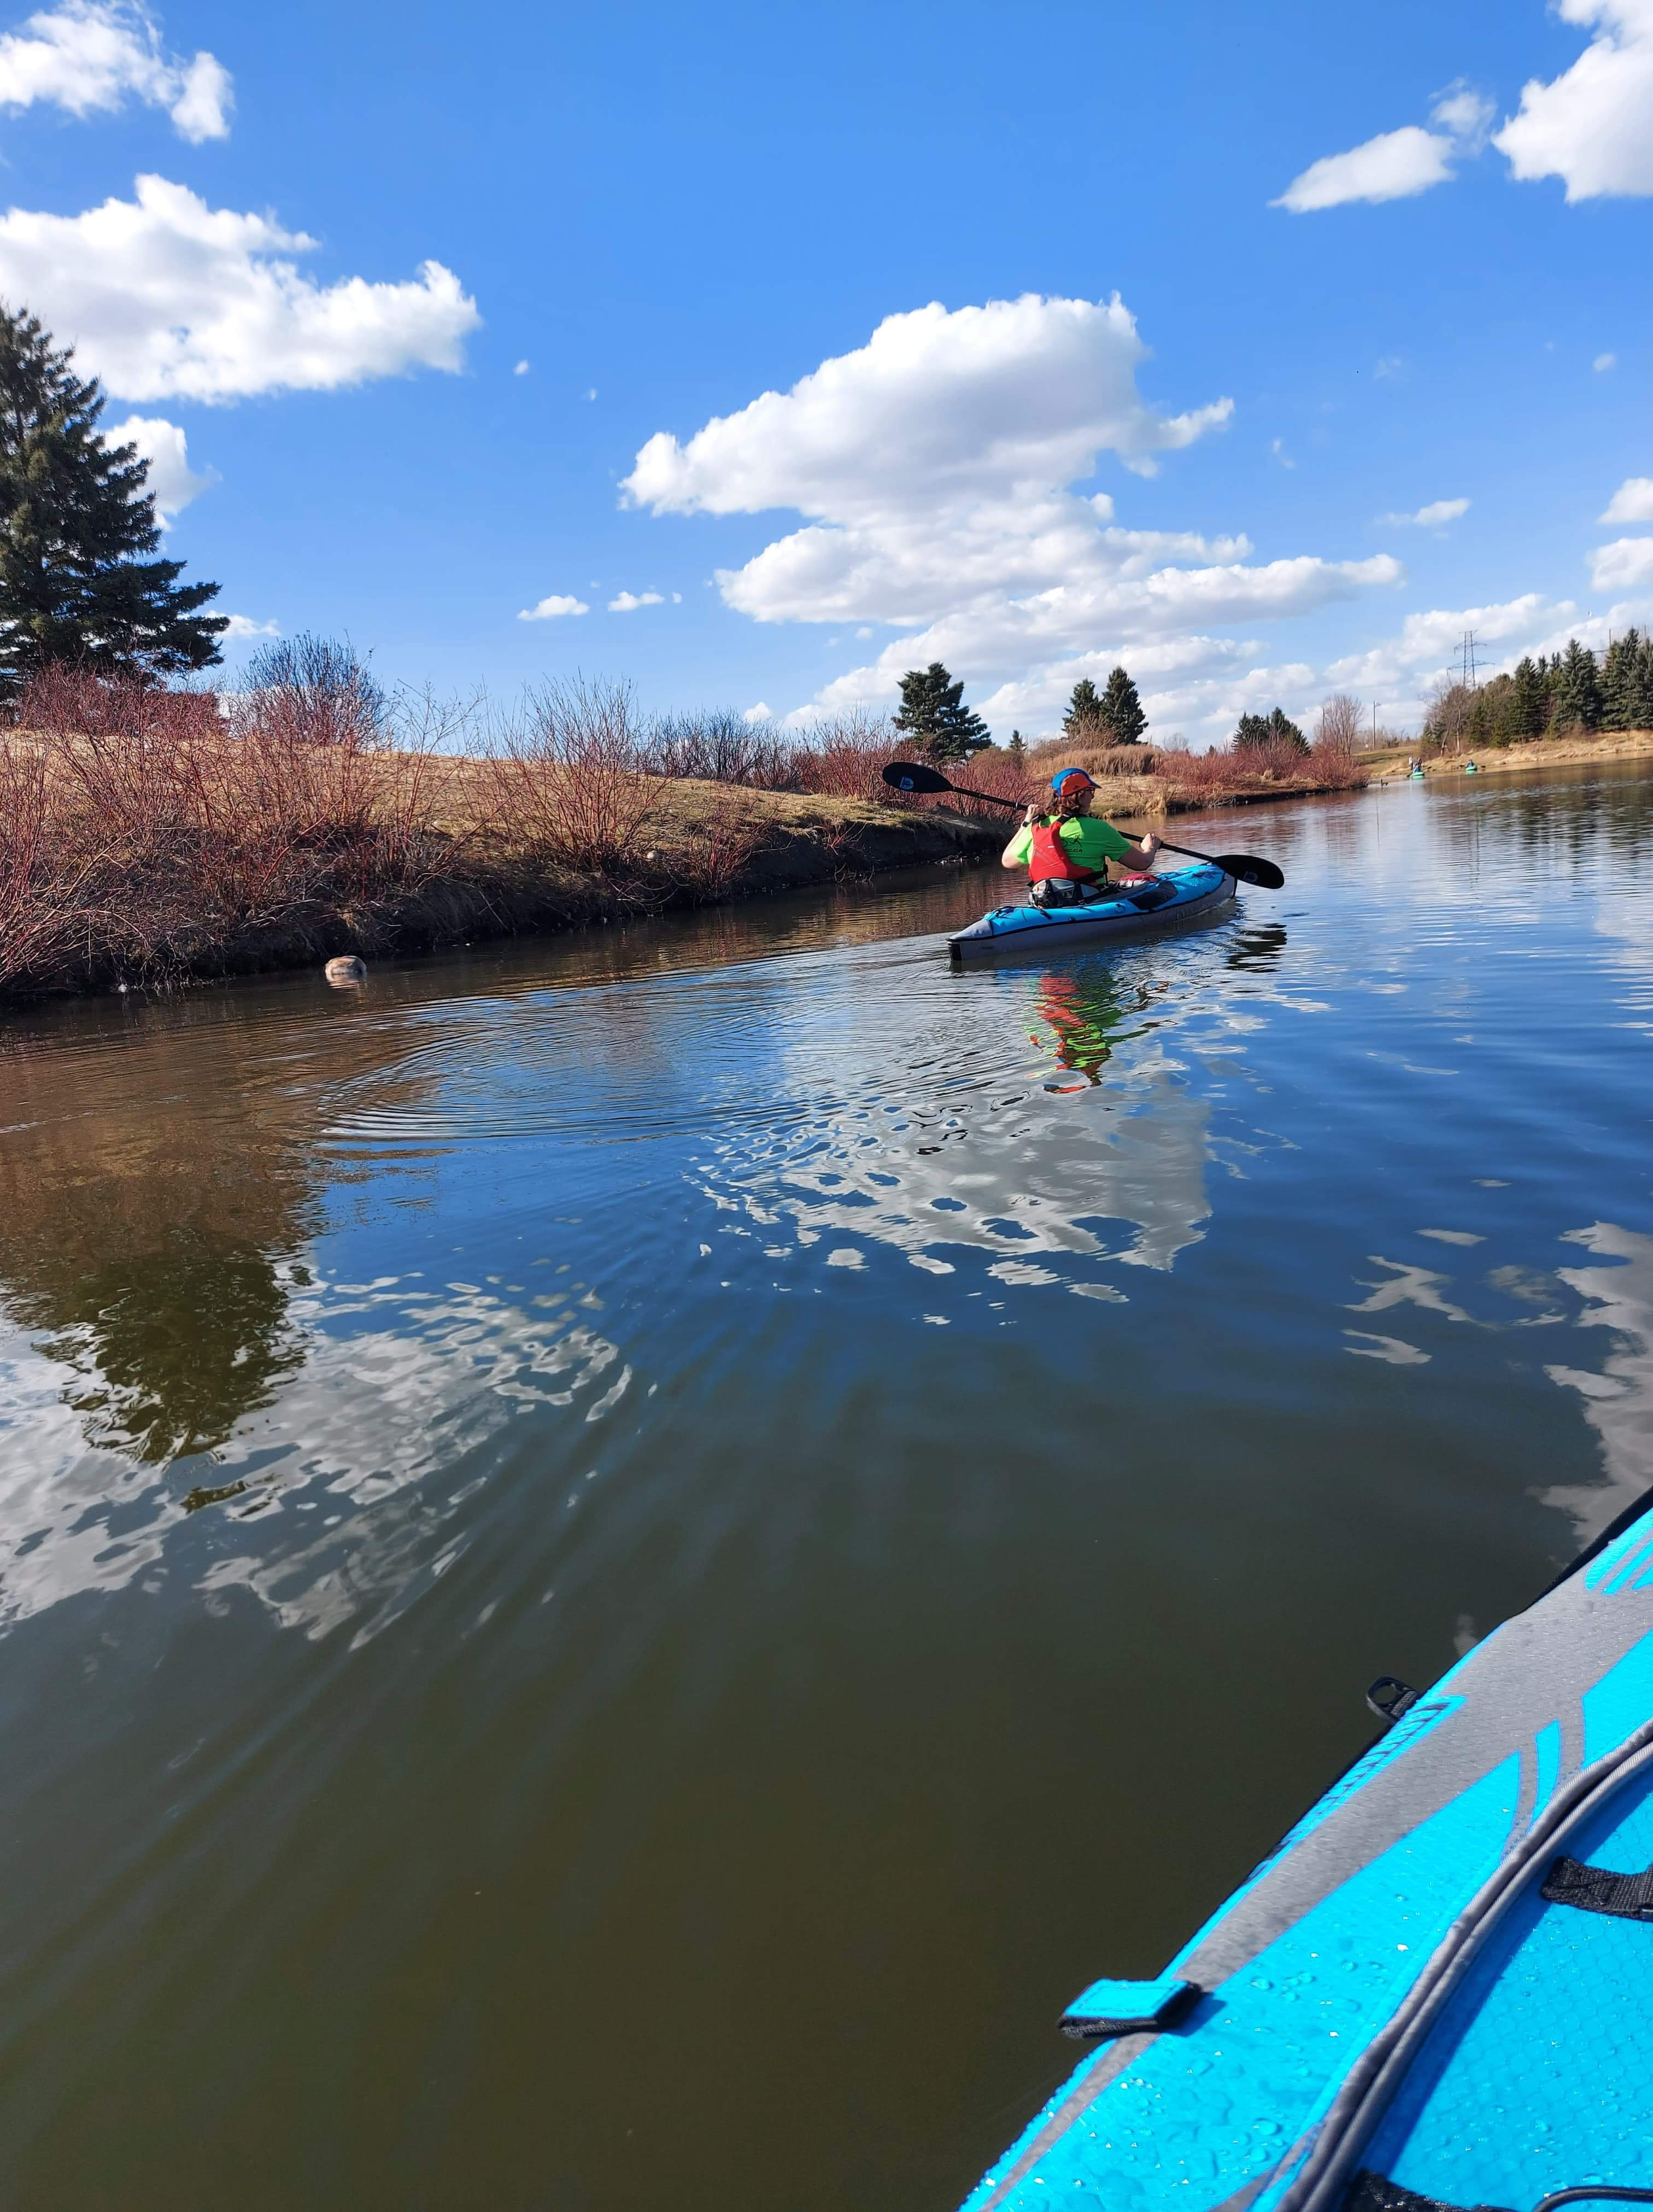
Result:
<svg viewBox="0 0 1653 2212">
<path fill-rule="evenodd" d="M 84 215 L 0 215 L 0 296 L 29 301 L 80 369 L 135 400 L 332 392 L 465 365 L 480 314 L 440 261 L 407 283 L 321 285 L 294 261 L 314 248 L 268 215 L 139 177 L 133 199 Z"/>
</svg>

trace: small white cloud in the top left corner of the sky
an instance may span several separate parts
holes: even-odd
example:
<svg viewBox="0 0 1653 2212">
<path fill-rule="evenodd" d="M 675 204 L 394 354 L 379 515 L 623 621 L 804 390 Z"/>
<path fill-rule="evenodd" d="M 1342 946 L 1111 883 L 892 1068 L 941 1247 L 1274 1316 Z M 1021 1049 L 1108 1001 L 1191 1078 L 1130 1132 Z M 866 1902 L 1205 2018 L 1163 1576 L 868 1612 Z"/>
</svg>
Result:
<svg viewBox="0 0 1653 2212">
<path fill-rule="evenodd" d="M 166 53 L 146 7 L 64 0 L 0 38 L 0 106 L 38 102 L 69 115 L 111 113 L 126 100 L 166 108 L 193 146 L 230 135 L 228 69 L 210 53 Z"/>
</svg>

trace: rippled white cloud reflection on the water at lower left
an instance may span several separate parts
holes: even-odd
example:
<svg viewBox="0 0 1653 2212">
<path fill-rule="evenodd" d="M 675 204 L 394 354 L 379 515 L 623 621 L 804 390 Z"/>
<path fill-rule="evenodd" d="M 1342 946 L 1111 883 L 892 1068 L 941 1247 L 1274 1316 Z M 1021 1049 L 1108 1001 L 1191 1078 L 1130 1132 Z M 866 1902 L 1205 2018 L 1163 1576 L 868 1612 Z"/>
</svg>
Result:
<svg viewBox="0 0 1653 2212">
<path fill-rule="evenodd" d="M 469 1285 L 305 1281 L 290 1314 L 303 1358 L 272 1405 L 159 1480 L 142 1458 L 89 1449 L 75 1371 L 20 1332 L 0 1336 L 2 1626 L 166 1575 L 186 1531 L 184 1571 L 204 1593 L 243 1586 L 310 1635 L 356 1615 L 383 1626 L 443 1573 L 456 1467 L 482 1464 L 527 1409 L 602 1418 L 631 1380 L 578 1307 L 533 1314 Z M 181 1471 L 246 1489 L 190 1524 Z M 297 1517 L 312 1511 L 314 1535 Z"/>
</svg>

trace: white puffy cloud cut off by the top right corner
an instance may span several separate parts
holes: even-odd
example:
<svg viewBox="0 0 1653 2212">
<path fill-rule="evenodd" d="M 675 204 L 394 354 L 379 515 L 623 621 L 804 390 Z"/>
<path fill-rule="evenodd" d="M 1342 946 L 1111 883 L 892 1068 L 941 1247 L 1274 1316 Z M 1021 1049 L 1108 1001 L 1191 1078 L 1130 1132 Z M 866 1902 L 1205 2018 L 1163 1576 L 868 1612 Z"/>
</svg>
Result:
<svg viewBox="0 0 1653 2212">
<path fill-rule="evenodd" d="M 1522 88 L 1494 135 L 1516 177 L 1560 177 L 1567 199 L 1653 192 L 1653 0 L 1560 0 L 1595 35 L 1569 71 Z"/>
</svg>

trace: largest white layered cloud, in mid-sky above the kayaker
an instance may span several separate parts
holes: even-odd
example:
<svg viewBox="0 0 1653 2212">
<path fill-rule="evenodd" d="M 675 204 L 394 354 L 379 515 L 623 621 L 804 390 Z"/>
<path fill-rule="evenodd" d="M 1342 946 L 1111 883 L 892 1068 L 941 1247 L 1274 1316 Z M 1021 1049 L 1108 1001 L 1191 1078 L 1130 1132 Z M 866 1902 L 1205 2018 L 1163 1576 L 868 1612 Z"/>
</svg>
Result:
<svg viewBox="0 0 1653 2212">
<path fill-rule="evenodd" d="M 1252 562 L 1244 535 L 1124 529 L 1080 491 L 1102 453 L 1142 471 L 1228 420 L 1230 403 L 1164 416 L 1137 392 L 1146 349 L 1117 301 L 994 301 L 894 314 L 792 392 L 766 392 L 686 442 L 662 431 L 624 493 L 655 513 L 794 509 L 801 529 L 717 573 L 755 622 L 887 626 L 823 708 L 896 697 L 945 659 L 971 684 L 1040 681 L 1073 655 L 1213 624 L 1308 613 L 1401 580 L 1365 562 Z M 1102 675 L 1106 675 L 1104 661 Z"/>
</svg>

